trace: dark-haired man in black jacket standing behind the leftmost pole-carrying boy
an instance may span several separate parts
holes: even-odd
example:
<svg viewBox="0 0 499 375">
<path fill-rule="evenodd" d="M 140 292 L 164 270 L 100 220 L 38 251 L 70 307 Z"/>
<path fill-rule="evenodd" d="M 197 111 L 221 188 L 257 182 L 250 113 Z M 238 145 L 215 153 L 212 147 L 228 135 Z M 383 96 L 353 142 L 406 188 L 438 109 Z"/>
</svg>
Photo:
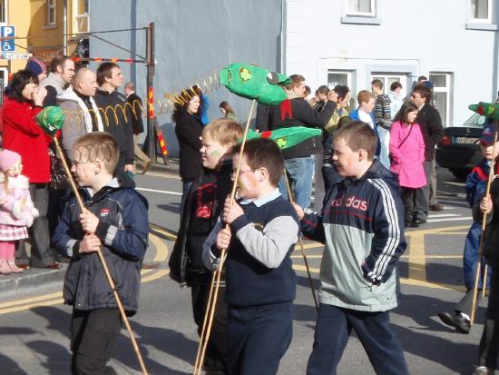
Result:
<svg viewBox="0 0 499 375">
<path fill-rule="evenodd" d="M 97 89 L 93 99 L 103 117 L 104 132 L 113 135 L 120 149 L 116 177 L 122 186 L 135 187 L 130 175 L 134 171 L 133 114 L 125 105 L 124 95 L 117 92 L 123 84 L 120 66 L 114 63 L 100 64 L 97 68 L 97 84 L 100 89 Z"/>
</svg>

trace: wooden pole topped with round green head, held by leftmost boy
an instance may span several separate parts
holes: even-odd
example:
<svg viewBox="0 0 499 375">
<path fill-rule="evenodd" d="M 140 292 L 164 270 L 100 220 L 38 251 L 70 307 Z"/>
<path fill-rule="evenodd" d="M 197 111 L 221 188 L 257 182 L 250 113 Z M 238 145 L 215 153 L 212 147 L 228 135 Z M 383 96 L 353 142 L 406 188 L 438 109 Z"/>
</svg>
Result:
<svg viewBox="0 0 499 375">
<path fill-rule="evenodd" d="M 44 108 L 44 110 L 41 113 L 38 113 L 36 116 L 36 120 L 38 123 L 40 123 L 40 126 L 44 130 L 45 133 L 48 135 L 54 136 L 54 134 L 62 128 L 65 120 L 65 115 L 63 110 L 61 110 L 59 107 L 55 106 L 49 106 Z M 64 157 L 63 150 L 61 149 L 61 144 L 59 143 L 58 139 L 56 136 L 54 136 L 54 144 L 55 148 L 57 150 L 57 153 L 59 154 L 59 158 L 63 162 L 64 166 L 64 171 L 68 177 L 69 183 L 71 184 L 71 187 L 74 192 L 74 196 L 76 197 L 76 201 L 78 202 L 78 206 L 80 207 L 80 210 L 82 212 L 86 212 L 87 210 L 85 209 L 82 201 L 82 197 L 80 196 L 80 193 L 78 192 L 78 188 L 76 186 L 76 183 L 74 183 L 73 179 L 73 174 L 71 173 L 71 170 L 68 166 L 68 163 Z M 137 345 L 137 341 L 135 340 L 135 336 L 133 335 L 132 328 L 130 327 L 130 323 L 128 321 L 128 318 L 125 314 L 125 311 L 123 309 L 122 305 L 122 300 L 120 299 L 120 295 L 118 294 L 118 291 L 116 290 L 116 285 L 114 284 L 113 278 L 111 276 L 111 273 L 109 271 L 109 268 L 107 266 L 107 263 L 105 262 L 105 259 L 103 257 L 103 252 L 101 251 L 101 248 L 97 249 L 97 255 L 99 256 L 99 259 L 101 263 L 103 264 L 103 270 L 106 275 L 107 281 L 109 282 L 109 286 L 111 290 L 113 291 L 114 299 L 116 300 L 116 303 L 118 305 L 118 310 L 120 311 L 120 314 L 122 316 L 122 321 L 124 322 L 126 329 L 128 333 L 130 334 L 130 338 L 132 340 L 132 346 L 133 349 L 135 350 L 135 353 L 137 354 L 137 358 L 139 360 L 139 363 L 141 365 L 142 373 L 144 375 L 147 375 L 148 372 L 145 368 L 144 361 L 142 360 L 142 355 L 141 351 L 139 350 L 139 346 Z"/>
</svg>

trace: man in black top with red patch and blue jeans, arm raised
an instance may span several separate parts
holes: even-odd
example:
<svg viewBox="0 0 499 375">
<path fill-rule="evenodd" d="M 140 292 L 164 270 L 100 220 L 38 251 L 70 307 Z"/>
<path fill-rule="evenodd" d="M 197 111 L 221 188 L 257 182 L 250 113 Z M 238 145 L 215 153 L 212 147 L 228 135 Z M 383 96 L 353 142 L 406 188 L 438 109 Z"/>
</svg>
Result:
<svg viewBox="0 0 499 375">
<path fill-rule="evenodd" d="M 288 99 L 281 104 L 270 107 L 269 129 L 279 129 L 294 126 L 323 127 L 326 125 L 336 109 L 338 96 L 328 94 L 328 103 L 321 112 L 316 112 L 303 100 L 305 93 L 305 78 L 302 75 L 289 76 L 291 83 L 284 87 Z M 283 152 L 286 171 L 291 180 L 291 191 L 300 207 L 308 208 L 312 193 L 312 176 L 314 173 L 313 154 L 322 152 L 322 136 L 308 139 L 295 147 Z M 320 178 L 320 176 L 318 176 Z M 288 196 L 285 181 L 281 178 L 279 192 Z"/>
</svg>

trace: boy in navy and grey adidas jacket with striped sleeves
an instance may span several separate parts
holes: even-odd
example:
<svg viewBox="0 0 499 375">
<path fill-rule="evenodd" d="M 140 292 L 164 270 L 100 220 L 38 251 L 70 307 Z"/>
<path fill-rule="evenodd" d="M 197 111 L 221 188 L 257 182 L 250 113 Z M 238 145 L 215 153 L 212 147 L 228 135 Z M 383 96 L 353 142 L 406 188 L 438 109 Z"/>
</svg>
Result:
<svg viewBox="0 0 499 375">
<path fill-rule="evenodd" d="M 377 374 L 408 374 L 388 315 L 397 305 L 396 262 L 406 250 L 404 207 L 396 176 L 374 159 L 376 150 L 367 123 L 342 127 L 333 161 L 344 179 L 326 192 L 321 215 L 295 205 L 303 234 L 325 243 L 308 375 L 337 373 L 352 329 Z"/>
</svg>

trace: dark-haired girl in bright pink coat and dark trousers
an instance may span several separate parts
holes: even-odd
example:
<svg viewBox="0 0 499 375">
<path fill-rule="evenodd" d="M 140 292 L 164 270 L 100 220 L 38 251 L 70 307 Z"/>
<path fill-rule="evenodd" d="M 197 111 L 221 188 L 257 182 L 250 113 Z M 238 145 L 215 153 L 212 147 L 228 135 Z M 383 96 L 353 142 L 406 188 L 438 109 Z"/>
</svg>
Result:
<svg viewBox="0 0 499 375">
<path fill-rule="evenodd" d="M 402 201 L 406 211 L 406 227 L 418 227 L 424 219 L 425 200 L 422 187 L 426 186 L 425 140 L 415 123 L 417 107 L 406 103 L 396 113 L 390 130 L 392 172 L 398 174 Z"/>
</svg>

